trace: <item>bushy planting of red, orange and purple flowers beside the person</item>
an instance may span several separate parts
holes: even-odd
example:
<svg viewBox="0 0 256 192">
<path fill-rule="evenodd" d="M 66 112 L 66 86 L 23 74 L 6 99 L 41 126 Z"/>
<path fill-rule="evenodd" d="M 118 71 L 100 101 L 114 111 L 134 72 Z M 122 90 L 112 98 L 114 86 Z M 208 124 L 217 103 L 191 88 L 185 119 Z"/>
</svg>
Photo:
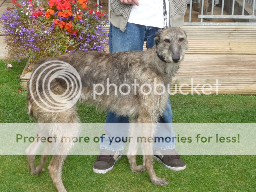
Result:
<svg viewBox="0 0 256 192">
<path fill-rule="evenodd" d="M 25 54 L 35 64 L 45 57 L 55 57 L 78 50 L 103 51 L 108 46 L 106 13 L 87 0 L 13 0 L 0 18 L 8 58 Z"/>
</svg>

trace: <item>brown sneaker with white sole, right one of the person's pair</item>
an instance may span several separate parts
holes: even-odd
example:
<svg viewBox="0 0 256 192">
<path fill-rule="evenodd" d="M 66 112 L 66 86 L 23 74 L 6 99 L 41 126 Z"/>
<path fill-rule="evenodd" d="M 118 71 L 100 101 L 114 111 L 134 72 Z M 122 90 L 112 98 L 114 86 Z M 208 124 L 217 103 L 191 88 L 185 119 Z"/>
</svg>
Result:
<svg viewBox="0 0 256 192">
<path fill-rule="evenodd" d="M 161 162 L 165 167 L 174 171 L 186 169 L 185 162 L 180 158 L 175 149 L 153 151 L 154 158 Z"/>
</svg>

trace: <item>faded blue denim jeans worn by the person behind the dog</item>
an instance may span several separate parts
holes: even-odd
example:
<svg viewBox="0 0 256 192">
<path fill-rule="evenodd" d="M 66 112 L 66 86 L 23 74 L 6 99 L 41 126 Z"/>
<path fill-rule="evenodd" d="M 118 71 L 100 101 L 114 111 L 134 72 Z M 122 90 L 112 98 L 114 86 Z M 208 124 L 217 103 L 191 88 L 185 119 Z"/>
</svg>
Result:
<svg viewBox="0 0 256 192">
<path fill-rule="evenodd" d="M 119 28 L 110 24 L 109 31 L 109 50 L 110 52 L 120 51 L 142 51 L 144 41 L 147 41 L 147 49 L 152 48 L 155 45 L 154 36 L 159 28 L 148 27 L 138 24 L 127 23 L 126 31 L 122 33 Z M 158 121 L 159 123 L 169 123 L 162 125 L 160 129 L 157 129 L 154 137 L 175 137 L 170 123 L 173 122 L 172 108 L 170 99 L 166 106 L 163 117 Z M 112 127 L 108 123 L 126 123 L 122 127 Z M 115 137 L 127 137 L 129 131 L 129 117 L 117 116 L 116 114 L 107 111 L 105 131 L 103 142 L 100 142 L 100 148 L 111 151 L 122 151 L 124 149 L 124 142 L 110 142 L 109 138 Z M 174 142 L 155 142 L 153 143 L 153 150 L 168 150 L 174 149 Z"/>
</svg>

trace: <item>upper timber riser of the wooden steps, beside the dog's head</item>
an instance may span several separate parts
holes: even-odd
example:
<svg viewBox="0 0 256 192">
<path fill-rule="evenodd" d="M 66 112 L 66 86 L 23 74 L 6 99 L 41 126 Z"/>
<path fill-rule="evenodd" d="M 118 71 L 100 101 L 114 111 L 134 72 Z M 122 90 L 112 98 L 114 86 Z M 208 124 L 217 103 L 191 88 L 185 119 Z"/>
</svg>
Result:
<svg viewBox="0 0 256 192">
<path fill-rule="evenodd" d="M 187 54 L 256 54 L 255 26 L 183 26 Z M 109 26 L 106 26 L 109 31 Z M 144 49 L 146 50 L 146 42 Z M 109 48 L 105 49 L 109 52 Z"/>
</svg>

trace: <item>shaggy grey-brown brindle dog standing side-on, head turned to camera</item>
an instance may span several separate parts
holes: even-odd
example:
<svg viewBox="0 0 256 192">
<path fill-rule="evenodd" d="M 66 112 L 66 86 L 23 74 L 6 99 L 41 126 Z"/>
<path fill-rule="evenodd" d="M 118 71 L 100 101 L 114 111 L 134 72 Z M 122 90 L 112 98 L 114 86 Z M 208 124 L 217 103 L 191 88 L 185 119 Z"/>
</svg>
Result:
<svg viewBox="0 0 256 192">
<path fill-rule="evenodd" d="M 49 107 L 49 100 L 45 95 L 54 93 L 61 95 L 67 89 L 74 87 L 68 87 L 67 82 L 61 78 L 56 78 L 50 82 L 51 75 L 48 74 L 50 69 L 59 70 L 54 63 L 57 61 L 64 61 L 69 63 L 79 73 L 81 78 L 81 95 L 79 101 L 83 104 L 92 103 L 93 105 L 114 112 L 120 116 L 130 116 L 132 122 L 138 123 L 156 123 L 162 116 L 169 97 L 167 88 L 168 84 L 172 82 L 172 78 L 177 73 L 180 63 L 183 61 L 185 52 L 188 49 L 188 41 L 186 33 L 180 28 L 168 28 L 159 31 L 155 35 L 156 45 L 152 49 L 142 51 L 128 51 L 117 53 L 103 53 L 103 52 L 84 52 L 79 51 L 77 53 L 68 53 L 55 58 L 46 58 L 38 62 L 32 76 L 33 80 L 28 82 L 28 95 L 27 95 L 27 110 L 31 118 L 36 119 L 38 123 L 79 123 L 77 107 L 76 105 L 71 108 L 54 112 Z M 40 68 L 46 62 L 52 61 L 49 64 L 49 68 Z M 64 65 L 64 64 L 63 64 Z M 37 70 L 38 69 L 38 70 Z M 43 73 L 43 76 L 39 76 Z M 46 77 L 48 74 L 48 77 Z M 45 81 L 44 81 L 45 78 Z M 104 92 L 101 95 L 95 95 L 95 91 L 98 93 L 102 91 L 101 87 L 93 88 L 93 84 L 101 83 L 106 87 L 107 79 L 109 83 L 116 84 L 119 87 L 121 84 L 134 83 L 137 80 L 139 84 L 138 90 L 141 90 L 143 84 L 149 84 L 152 87 L 150 94 L 142 94 L 137 91 L 135 93 L 134 88 L 131 89 L 129 94 L 123 95 L 121 93 L 115 94 L 115 88 L 110 87 L 109 94 Z M 37 81 L 38 80 L 38 81 Z M 154 81 L 163 84 L 163 87 L 154 87 Z M 49 87 L 45 86 L 45 92 L 43 92 L 43 83 L 49 83 Z M 74 86 L 74 85 L 73 85 Z M 48 90 L 49 89 L 49 90 Z M 155 95 L 154 90 L 157 89 L 161 95 Z M 143 87 L 144 93 L 147 93 L 147 87 Z M 126 92 L 123 90 L 123 92 Z M 41 94 L 41 95 L 40 95 Z M 32 97 L 33 95 L 33 97 Z M 40 97 L 39 97 L 40 96 Z M 94 97 L 95 96 L 95 97 Z M 58 100 L 62 103 L 61 99 Z M 78 127 L 73 126 L 68 129 L 70 135 L 76 135 L 78 133 Z M 152 137 L 154 132 L 154 126 L 148 126 L 143 130 L 145 137 Z M 54 135 L 61 132 L 61 129 L 46 130 L 51 131 Z M 136 132 L 136 130 L 132 130 Z M 66 191 L 62 183 L 62 165 L 68 154 L 68 151 L 72 144 L 66 143 L 60 146 L 59 149 L 63 151 L 62 155 L 55 154 L 48 167 L 49 174 L 53 180 L 58 191 Z M 144 151 L 144 164 L 137 166 L 136 154 L 128 155 L 130 161 L 130 167 L 132 172 L 142 172 L 147 170 L 150 179 L 155 185 L 168 185 L 168 182 L 164 178 L 158 178 L 153 168 L 153 149 L 151 144 L 142 144 Z M 57 146 L 58 147 L 58 146 Z M 134 147 L 134 146 L 132 146 Z M 35 166 L 35 154 L 38 146 L 32 143 L 26 150 L 27 161 L 29 165 L 29 171 L 31 174 L 40 174 L 43 170 L 47 153 L 44 153 L 39 166 Z M 33 151 L 33 153 L 30 153 Z M 47 152 L 47 150 L 46 150 Z M 32 155 L 31 155 L 32 154 Z"/>
</svg>

